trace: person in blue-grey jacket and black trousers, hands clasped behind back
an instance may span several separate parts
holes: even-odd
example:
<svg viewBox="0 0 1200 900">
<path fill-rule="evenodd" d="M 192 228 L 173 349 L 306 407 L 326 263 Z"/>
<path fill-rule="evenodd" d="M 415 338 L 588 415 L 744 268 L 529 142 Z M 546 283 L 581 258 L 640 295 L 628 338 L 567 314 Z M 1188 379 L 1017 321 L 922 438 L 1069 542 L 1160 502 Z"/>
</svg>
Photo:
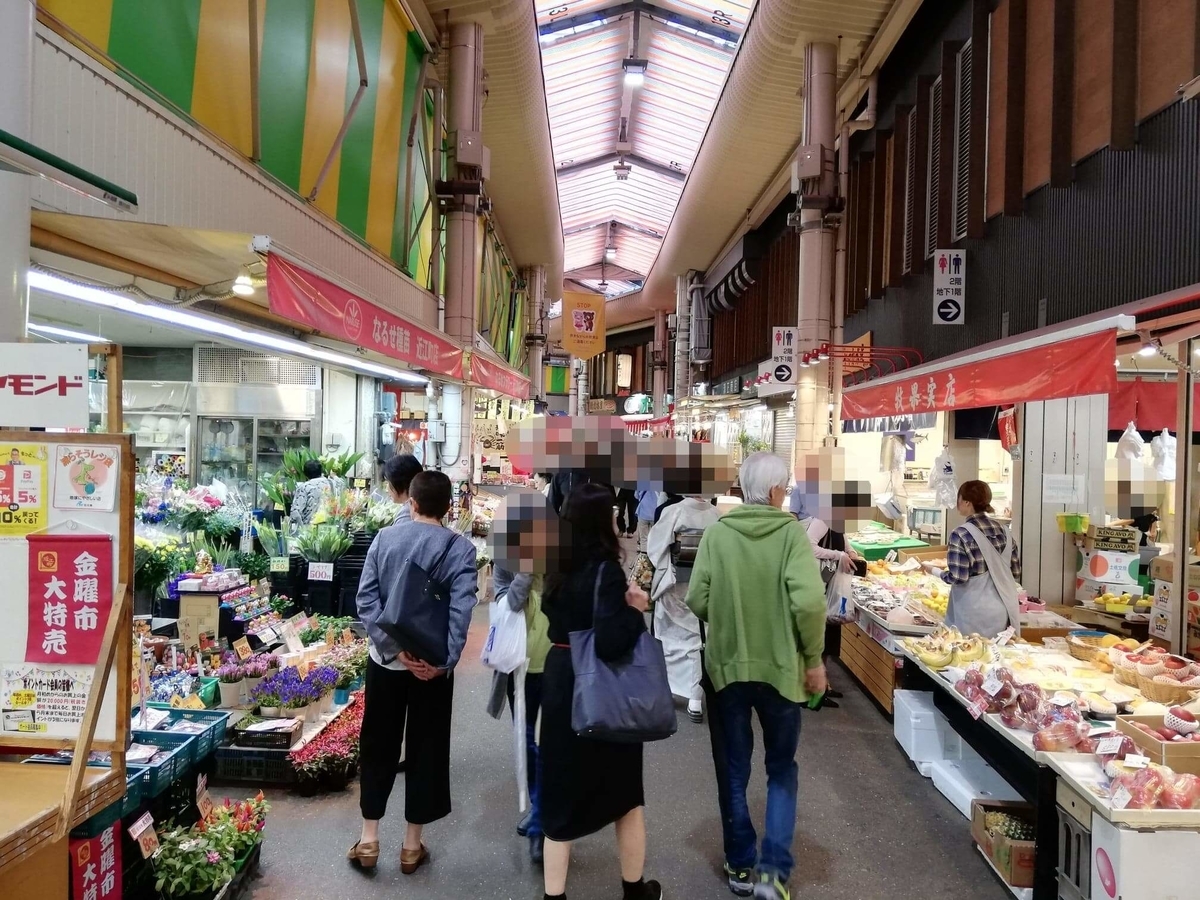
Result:
<svg viewBox="0 0 1200 900">
<path fill-rule="evenodd" d="M 442 527 L 450 509 L 450 479 L 421 472 L 409 485 L 412 520 L 379 532 L 367 552 L 359 583 L 359 618 L 367 629 L 366 696 L 360 734 L 362 830 L 347 857 L 364 869 L 379 859 L 379 820 L 396 781 L 402 743 L 408 751 L 401 871 L 412 875 L 428 859 L 421 842 L 424 826 L 450 814 L 450 716 L 454 668 L 467 643 L 479 576 L 475 547 Z M 401 650 L 379 625 L 389 595 L 421 577 L 443 584 L 450 594 L 445 665 L 433 665 Z"/>
</svg>

